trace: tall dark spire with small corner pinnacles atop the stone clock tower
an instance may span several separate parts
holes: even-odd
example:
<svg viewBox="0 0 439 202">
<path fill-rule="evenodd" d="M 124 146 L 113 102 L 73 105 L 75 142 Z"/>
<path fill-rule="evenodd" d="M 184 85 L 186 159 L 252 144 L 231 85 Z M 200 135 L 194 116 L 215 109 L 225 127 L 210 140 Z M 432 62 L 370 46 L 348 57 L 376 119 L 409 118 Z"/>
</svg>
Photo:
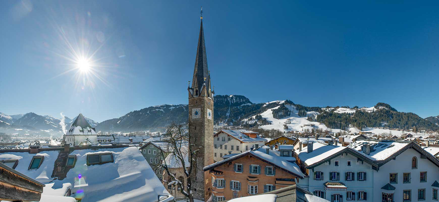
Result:
<svg viewBox="0 0 439 202">
<path fill-rule="evenodd" d="M 201 11 L 202 14 L 202 11 Z M 205 86 L 205 89 L 204 89 Z M 206 95 L 210 93 L 210 75 L 207 68 L 206 46 L 204 42 L 203 17 L 201 17 L 200 34 L 198 36 L 197 56 L 195 57 L 194 77 L 191 87 L 192 96 Z M 203 92 L 205 90 L 206 92 Z"/>
</svg>

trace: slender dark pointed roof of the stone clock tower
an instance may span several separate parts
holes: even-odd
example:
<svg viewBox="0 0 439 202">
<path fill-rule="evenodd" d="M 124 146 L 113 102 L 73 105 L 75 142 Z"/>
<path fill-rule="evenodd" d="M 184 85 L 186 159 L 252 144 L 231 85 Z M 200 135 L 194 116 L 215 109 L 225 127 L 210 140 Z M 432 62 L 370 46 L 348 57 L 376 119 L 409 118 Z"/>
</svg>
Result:
<svg viewBox="0 0 439 202">
<path fill-rule="evenodd" d="M 206 81 L 204 81 L 206 78 Z M 196 81 L 196 82 L 195 82 Z M 198 85 L 195 86 L 195 83 Z M 198 92 L 202 91 L 203 84 L 206 89 L 210 89 L 209 70 L 207 68 L 206 45 L 204 42 L 203 19 L 200 25 L 200 35 L 198 36 L 197 57 L 195 58 L 194 78 L 192 79 L 192 89 L 198 87 Z M 207 94 L 207 93 L 206 93 Z"/>
</svg>

